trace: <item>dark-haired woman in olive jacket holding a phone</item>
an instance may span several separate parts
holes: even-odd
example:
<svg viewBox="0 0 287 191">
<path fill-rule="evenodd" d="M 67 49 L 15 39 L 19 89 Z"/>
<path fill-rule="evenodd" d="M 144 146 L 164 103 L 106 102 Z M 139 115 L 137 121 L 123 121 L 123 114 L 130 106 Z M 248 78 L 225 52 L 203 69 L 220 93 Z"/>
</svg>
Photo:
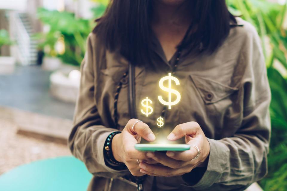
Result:
<svg viewBox="0 0 287 191">
<path fill-rule="evenodd" d="M 94 175 L 88 190 L 136 190 L 125 179 L 145 191 L 245 190 L 266 175 L 264 57 L 255 28 L 231 15 L 225 0 L 112 1 L 88 37 L 81 73 L 68 144 Z M 181 95 L 172 109 L 158 100 L 168 73 L 180 81 L 172 82 Z M 148 117 L 140 110 L 146 97 Z M 199 152 L 135 150 L 144 140 L 183 140 Z"/>
</svg>

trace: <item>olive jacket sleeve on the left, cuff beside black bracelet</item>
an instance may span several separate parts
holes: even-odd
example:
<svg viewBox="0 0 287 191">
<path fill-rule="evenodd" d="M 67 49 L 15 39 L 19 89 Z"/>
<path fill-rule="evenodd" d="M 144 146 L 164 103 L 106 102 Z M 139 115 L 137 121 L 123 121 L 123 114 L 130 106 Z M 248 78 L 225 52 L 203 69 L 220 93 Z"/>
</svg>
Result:
<svg viewBox="0 0 287 191">
<path fill-rule="evenodd" d="M 103 149 L 108 135 L 118 131 L 105 127 L 94 101 L 94 40 L 90 34 L 87 40 L 87 51 L 81 63 L 80 90 L 74 111 L 73 128 L 68 138 L 71 153 L 83 161 L 93 175 L 115 178 L 125 175 L 129 170 L 114 170 L 104 161 Z"/>
</svg>

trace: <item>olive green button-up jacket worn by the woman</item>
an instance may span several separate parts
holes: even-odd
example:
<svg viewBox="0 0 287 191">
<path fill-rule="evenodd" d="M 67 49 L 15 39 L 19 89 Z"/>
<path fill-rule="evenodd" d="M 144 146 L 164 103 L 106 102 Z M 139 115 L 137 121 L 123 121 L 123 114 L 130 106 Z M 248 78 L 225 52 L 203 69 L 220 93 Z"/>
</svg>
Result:
<svg viewBox="0 0 287 191">
<path fill-rule="evenodd" d="M 271 93 L 266 75 L 265 60 L 255 28 L 236 18 L 223 44 L 211 55 L 191 56 L 182 50 L 177 69 L 172 76 L 180 81 L 175 85 L 181 94 L 178 104 L 166 111 L 161 133 L 177 125 L 196 121 L 210 143 L 207 170 L 196 184 L 183 176 L 157 177 L 158 190 L 244 190 L 267 173 L 267 154 L 270 140 L 269 104 Z M 135 99 L 138 119 L 155 130 L 156 119 L 163 105 L 158 96 L 164 92 L 158 81 L 167 76 L 176 59 L 167 61 L 159 41 L 154 38 L 153 61 L 160 70 L 135 68 Z M 131 50 L 132 51 L 132 50 Z M 129 170 L 113 170 L 106 166 L 103 146 L 115 128 L 115 93 L 119 82 L 117 118 L 120 130 L 129 121 L 128 62 L 117 51 L 110 52 L 91 33 L 81 65 L 80 91 L 74 113 L 74 124 L 68 139 L 73 155 L 82 160 L 94 175 L 88 190 L 103 190 L 106 178 L 126 175 Z M 153 113 L 146 117 L 141 101 L 152 100 Z M 156 136 L 157 136 L 156 135 Z M 145 190 L 151 189 L 154 177 L 147 176 Z M 116 183 L 116 190 L 135 190 Z"/>
</svg>

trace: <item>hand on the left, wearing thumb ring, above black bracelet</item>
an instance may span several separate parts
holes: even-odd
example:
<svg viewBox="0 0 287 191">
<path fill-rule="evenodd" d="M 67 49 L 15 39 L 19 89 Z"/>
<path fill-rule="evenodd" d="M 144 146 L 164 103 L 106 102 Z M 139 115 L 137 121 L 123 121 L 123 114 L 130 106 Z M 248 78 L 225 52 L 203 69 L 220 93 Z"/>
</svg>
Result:
<svg viewBox="0 0 287 191">
<path fill-rule="evenodd" d="M 149 164 L 156 164 L 157 161 L 153 160 L 151 157 L 154 156 L 153 152 L 143 152 L 135 149 L 135 144 L 140 143 L 141 137 L 146 141 L 154 141 L 155 135 L 150 130 L 149 126 L 144 122 L 138 122 L 138 119 L 130 119 L 123 129 L 122 133 L 116 134 L 112 140 L 112 152 L 114 158 L 126 164 L 129 171 L 134 176 L 142 176 L 144 173 L 140 172 L 140 167 L 137 159 L 145 161 Z M 135 124 L 134 130 L 132 130 L 132 125 Z"/>
</svg>

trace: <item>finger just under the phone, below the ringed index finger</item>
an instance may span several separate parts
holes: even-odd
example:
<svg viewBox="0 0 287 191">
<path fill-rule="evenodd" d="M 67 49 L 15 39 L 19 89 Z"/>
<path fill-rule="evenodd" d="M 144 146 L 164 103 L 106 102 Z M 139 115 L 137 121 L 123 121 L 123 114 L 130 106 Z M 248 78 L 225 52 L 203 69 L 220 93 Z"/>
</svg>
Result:
<svg viewBox="0 0 287 191">
<path fill-rule="evenodd" d="M 155 156 L 152 157 L 152 159 L 173 169 L 186 166 L 185 161 L 178 161 L 173 158 L 167 157 L 165 153 L 155 152 Z"/>
</svg>

